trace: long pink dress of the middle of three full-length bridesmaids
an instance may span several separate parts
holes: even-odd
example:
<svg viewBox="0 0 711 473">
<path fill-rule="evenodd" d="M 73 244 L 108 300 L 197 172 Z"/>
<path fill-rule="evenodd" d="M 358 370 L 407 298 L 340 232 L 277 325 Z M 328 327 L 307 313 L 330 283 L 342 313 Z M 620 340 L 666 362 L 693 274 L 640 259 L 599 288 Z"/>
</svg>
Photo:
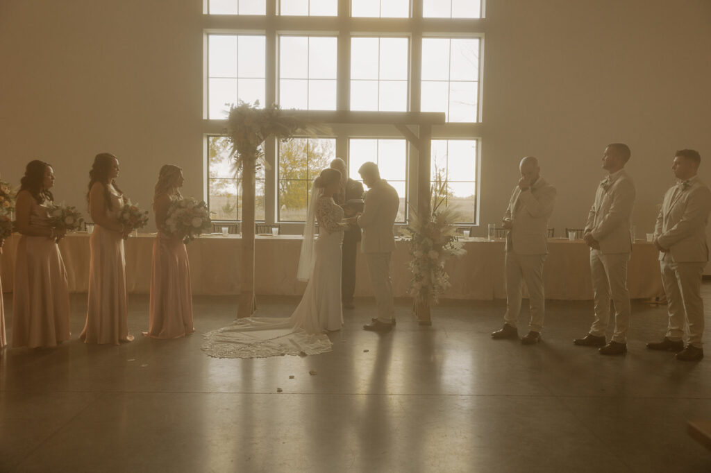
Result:
<svg viewBox="0 0 711 473">
<path fill-rule="evenodd" d="M 118 218 L 124 199 L 111 194 L 111 201 L 109 217 Z M 124 239 L 119 232 L 95 225 L 89 248 L 87 321 L 79 338 L 92 344 L 131 342 L 134 337 L 128 329 Z"/>
</svg>

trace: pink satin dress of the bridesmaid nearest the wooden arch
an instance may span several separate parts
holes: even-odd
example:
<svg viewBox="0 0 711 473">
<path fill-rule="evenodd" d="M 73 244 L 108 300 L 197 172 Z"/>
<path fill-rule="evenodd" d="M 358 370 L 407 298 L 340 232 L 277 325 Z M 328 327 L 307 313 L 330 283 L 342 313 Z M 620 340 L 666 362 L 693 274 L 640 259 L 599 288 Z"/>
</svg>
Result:
<svg viewBox="0 0 711 473">
<path fill-rule="evenodd" d="M 159 230 L 153 243 L 149 329 L 143 335 L 166 339 L 194 331 L 188 251 L 182 239 Z"/>
</svg>

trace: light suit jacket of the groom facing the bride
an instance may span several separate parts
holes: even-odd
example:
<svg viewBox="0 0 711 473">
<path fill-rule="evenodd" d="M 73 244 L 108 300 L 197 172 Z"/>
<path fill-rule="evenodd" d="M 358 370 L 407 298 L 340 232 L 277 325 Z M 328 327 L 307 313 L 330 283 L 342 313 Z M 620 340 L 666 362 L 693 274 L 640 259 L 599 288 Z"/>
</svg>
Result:
<svg viewBox="0 0 711 473">
<path fill-rule="evenodd" d="M 358 226 L 363 229 L 360 250 L 363 253 L 388 253 L 395 249 L 395 225 L 400 197 L 387 181 L 381 179 L 365 192 L 365 207 L 358 217 Z"/>
</svg>

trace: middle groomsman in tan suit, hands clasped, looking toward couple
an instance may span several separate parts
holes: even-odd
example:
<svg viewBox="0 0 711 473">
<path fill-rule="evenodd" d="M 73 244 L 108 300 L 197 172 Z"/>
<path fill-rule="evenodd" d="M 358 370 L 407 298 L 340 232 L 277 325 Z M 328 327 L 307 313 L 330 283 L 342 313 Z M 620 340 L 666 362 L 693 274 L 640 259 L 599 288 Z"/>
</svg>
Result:
<svg viewBox="0 0 711 473">
<path fill-rule="evenodd" d="M 590 246 L 595 320 L 588 335 L 573 342 L 584 347 L 601 347 L 599 352 L 605 355 L 627 352 L 630 315 L 627 261 L 632 251 L 630 221 L 635 189 L 624 165 L 630 156 L 629 146 L 623 143 L 605 148 L 602 168 L 609 174 L 597 187 L 583 236 Z M 615 327 L 611 341 L 605 344 L 610 296 L 615 307 Z"/>
</svg>

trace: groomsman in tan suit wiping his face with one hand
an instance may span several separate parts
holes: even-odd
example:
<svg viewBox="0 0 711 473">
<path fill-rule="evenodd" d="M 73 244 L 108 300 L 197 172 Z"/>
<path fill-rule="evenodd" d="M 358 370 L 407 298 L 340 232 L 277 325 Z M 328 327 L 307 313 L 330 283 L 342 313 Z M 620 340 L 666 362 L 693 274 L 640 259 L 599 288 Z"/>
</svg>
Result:
<svg viewBox="0 0 711 473">
<path fill-rule="evenodd" d="M 503 217 L 506 237 L 506 314 L 501 330 L 491 334 L 493 339 L 518 338 L 516 328 L 521 310 L 523 281 L 528 288 L 530 322 L 523 344 L 540 341 L 545 312 L 543 263 L 548 254 L 548 219 L 555 204 L 555 187 L 540 177 L 538 160 L 523 158 L 518 166 L 521 178 Z"/>
</svg>

